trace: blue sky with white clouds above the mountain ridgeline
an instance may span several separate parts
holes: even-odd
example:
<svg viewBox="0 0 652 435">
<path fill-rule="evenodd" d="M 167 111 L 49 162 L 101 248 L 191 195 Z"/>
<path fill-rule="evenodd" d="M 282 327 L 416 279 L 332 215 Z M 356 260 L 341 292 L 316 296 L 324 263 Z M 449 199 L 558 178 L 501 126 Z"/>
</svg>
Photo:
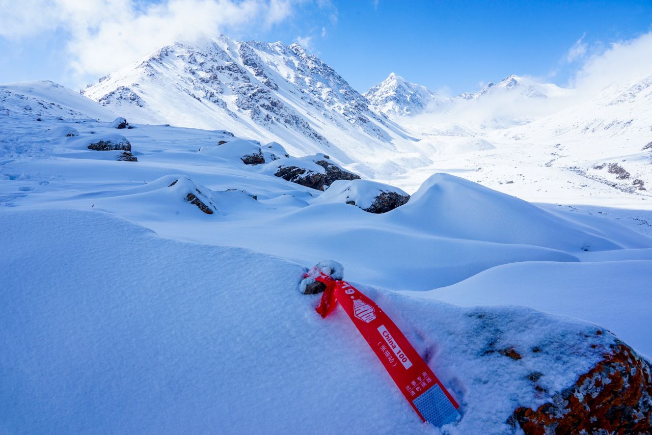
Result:
<svg viewBox="0 0 652 435">
<path fill-rule="evenodd" d="M 156 25 L 166 29 L 176 26 L 181 33 L 201 27 L 192 23 L 194 19 L 179 23 L 181 18 L 170 16 L 180 12 L 165 10 L 151 22 L 148 36 L 154 39 L 150 45 L 132 51 L 111 48 L 110 54 L 105 55 L 106 45 L 112 44 L 113 38 L 96 37 L 96 33 L 101 33 L 96 27 L 101 24 L 93 23 L 89 16 L 97 16 L 98 11 L 88 10 L 77 16 L 75 9 L 76 18 L 70 19 L 70 10 L 65 9 L 70 8 L 70 1 L 27 0 L 27 4 L 36 2 L 35 5 L 46 6 L 31 8 L 24 12 L 27 14 L 24 17 L 11 16 L 23 14 L 16 7 L 7 12 L 2 10 L 5 6 L 0 6 L 0 16 L 7 20 L 3 23 L 0 18 L 0 53 L 3 53 L 0 82 L 50 79 L 80 87 L 121 62 L 134 60 L 132 57 L 138 57 L 135 53 L 145 54 L 138 50 L 147 52 L 149 47 L 159 44 L 152 36 L 157 32 Z M 451 93 L 474 90 L 481 83 L 496 82 L 509 74 L 535 76 L 563 85 L 592 53 L 599 53 L 611 42 L 652 30 L 651 1 L 271 0 L 273 4 L 270 4 L 248 0 L 252 3 L 246 13 L 257 16 L 251 20 L 241 17 L 244 6 L 235 0 L 93 0 L 91 3 L 97 3 L 100 12 L 102 3 L 130 4 L 131 14 L 139 16 L 154 15 L 151 7 L 168 7 L 170 1 L 190 9 L 191 17 L 194 9 L 188 4 L 215 3 L 208 10 L 216 16 L 222 15 L 228 5 L 239 6 L 241 9 L 224 12 L 224 20 L 215 18 L 203 23 L 202 31 L 222 31 L 243 39 L 287 43 L 300 40 L 359 91 L 384 80 L 390 72 L 432 89 L 446 87 Z M 55 12 L 61 14 L 61 23 L 48 18 L 55 16 Z M 105 18 L 110 22 L 111 16 Z M 23 27 L 21 20 L 25 23 Z M 116 23 L 118 28 L 123 25 L 125 35 L 122 41 L 115 40 L 115 44 L 125 46 L 143 37 L 136 28 L 146 27 L 141 22 Z M 83 25 L 88 26 L 87 33 L 80 33 Z M 161 32 L 160 45 L 166 43 L 165 37 L 170 37 L 169 32 Z M 78 52 L 85 54 L 76 58 Z M 569 56 L 569 52 L 574 55 Z M 106 59 L 113 57 L 120 59 L 107 65 Z"/>
</svg>

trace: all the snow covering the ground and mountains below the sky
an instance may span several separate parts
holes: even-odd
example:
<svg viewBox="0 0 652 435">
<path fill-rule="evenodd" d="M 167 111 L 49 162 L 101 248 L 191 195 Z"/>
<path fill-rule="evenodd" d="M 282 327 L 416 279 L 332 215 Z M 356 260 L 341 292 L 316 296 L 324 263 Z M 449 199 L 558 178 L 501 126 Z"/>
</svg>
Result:
<svg viewBox="0 0 652 435">
<path fill-rule="evenodd" d="M 388 119 L 300 46 L 226 37 L 110 74 L 85 91 L 104 106 L 0 86 L 0 432 L 438 433 L 348 316 L 321 320 L 297 292 L 329 259 L 462 404 L 443 433 L 513 433 L 515 408 L 602 358 L 603 328 L 652 355 L 652 204 L 634 184 L 652 185 L 648 90 L 559 111 L 572 90 L 514 76 Z M 122 116 L 138 124 L 116 134 Z M 274 175 L 319 160 L 363 179 L 321 192 Z M 615 162 L 629 179 L 599 169 Z M 384 190 L 412 196 L 381 215 L 346 204 Z"/>
</svg>

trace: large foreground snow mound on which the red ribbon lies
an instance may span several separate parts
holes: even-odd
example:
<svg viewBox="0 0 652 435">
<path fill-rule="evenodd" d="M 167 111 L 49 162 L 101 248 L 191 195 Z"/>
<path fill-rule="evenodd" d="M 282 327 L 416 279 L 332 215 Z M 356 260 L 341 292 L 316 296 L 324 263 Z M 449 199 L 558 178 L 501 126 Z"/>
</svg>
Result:
<svg viewBox="0 0 652 435">
<path fill-rule="evenodd" d="M 318 296 L 297 292 L 299 265 L 99 212 L 3 210 L 0 225 L 8 433 L 324 432 L 306 403 L 319 403 L 327 432 L 437 433 L 343 310 L 322 320 Z M 458 433 L 511 432 L 518 406 L 548 402 L 614 344 L 595 325 L 525 308 L 359 288 L 460 402 Z"/>
</svg>

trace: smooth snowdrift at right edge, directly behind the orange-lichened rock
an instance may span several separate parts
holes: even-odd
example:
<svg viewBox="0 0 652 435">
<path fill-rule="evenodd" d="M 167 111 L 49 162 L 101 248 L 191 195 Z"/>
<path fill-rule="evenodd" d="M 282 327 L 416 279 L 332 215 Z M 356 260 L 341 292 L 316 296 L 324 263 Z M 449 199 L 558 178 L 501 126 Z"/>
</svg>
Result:
<svg viewBox="0 0 652 435">
<path fill-rule="evenodd" d="M 645 250 L 633 251 L 624 252 L 646 259 L 512 263 L 419 295 L 462 307 L 519 305 L 584 319 L 606 327 L 649 358 L 652 260 Z"/>
</svg>

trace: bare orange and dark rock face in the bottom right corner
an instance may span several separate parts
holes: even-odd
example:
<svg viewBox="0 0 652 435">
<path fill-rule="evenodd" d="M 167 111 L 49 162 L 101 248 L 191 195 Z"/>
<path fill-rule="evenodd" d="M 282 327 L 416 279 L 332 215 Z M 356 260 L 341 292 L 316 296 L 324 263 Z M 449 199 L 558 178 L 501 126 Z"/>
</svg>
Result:
<svg viewBox="0 0 652 435">
<path fill-rule="evenodd" d="M 652 433 L 651 371 L 627 344 L 616 342 L 552 403 L 534 411 L 518 408 L 508 423 L 535 435 Z"/>
</svg>

